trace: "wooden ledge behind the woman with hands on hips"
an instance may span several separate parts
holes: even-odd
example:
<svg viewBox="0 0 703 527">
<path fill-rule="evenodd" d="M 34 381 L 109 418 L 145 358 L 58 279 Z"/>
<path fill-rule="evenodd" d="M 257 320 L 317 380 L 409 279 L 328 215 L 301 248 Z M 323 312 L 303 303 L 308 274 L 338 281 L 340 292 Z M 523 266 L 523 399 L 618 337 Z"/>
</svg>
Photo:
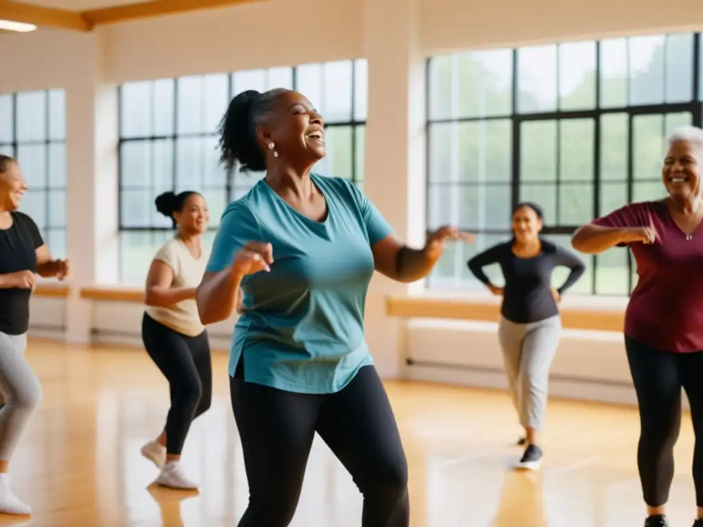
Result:
<svg viewBox="0 0 703 527">
<path fill-rule="evenodd" d="M 444 318 L 496 322 L 500 306 L 480 300 L 427 297 L 386 297 L 386 314 L 400 318 Z M 619 309 L 561 309 L 562 327 L 571 330 L 621 332 L 625 312 Z"/>
</svg>

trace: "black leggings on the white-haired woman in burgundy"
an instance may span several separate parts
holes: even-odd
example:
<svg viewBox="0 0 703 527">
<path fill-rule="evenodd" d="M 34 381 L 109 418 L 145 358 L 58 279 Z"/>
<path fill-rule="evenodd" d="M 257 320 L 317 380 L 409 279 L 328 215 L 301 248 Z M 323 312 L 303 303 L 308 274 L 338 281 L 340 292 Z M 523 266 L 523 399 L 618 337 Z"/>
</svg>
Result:
<svg viewBox="0 0 703 527">
<path fill-rule="evenodd" d="M 693 481 L 696 503 L 703 507 L 703 351 L 671 353 L 625 337 L 625 348 L 640 406 L 637 464 L 645 503 L 669 500 L 673 480 L 673 445 L 681 428 L 681 388 L 686 391 L 696 437 Z"/>
</svg>

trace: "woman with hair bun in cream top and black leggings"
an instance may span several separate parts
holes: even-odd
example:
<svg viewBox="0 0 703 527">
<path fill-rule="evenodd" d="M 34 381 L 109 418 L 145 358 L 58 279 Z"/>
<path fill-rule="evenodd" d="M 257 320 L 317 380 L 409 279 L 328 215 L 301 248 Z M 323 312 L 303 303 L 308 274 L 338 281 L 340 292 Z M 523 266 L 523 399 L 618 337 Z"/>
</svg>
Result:
<svg viewBox="0 0 703 527">
<path fill-rule="evenodd" d="M 195 288 L 209 258 L 200 243 L 209 214 L 205 198 L 190 190 L 163 193 L 156 209 L 173 221 L 176 235 L 151 262 L 141 334 L 147 353 L 168 379 L 171 408 L 166 427 L 141 453 L 161 470 L 156 483 L 194 490 L 198 484 L 183 475 L 179 460 L 191 422 L 212 398 L 209 340 L 195 304 Z"/>
</svg>

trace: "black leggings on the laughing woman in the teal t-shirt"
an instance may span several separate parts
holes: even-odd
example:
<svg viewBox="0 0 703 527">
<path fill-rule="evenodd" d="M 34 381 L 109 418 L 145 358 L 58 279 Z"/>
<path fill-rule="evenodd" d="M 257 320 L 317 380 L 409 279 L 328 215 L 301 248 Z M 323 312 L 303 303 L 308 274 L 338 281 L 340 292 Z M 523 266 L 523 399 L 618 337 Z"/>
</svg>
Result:
<svg viewBox="0 0 703 527">
<path fill-rule="evenodd" d="M 311 395 L 230 378 L 249 506 L 239 527 L 285 527 L 295 514 L 315 432 L 363 494 L 363 527 L 408 527 L 408 464 L 373 366 L 337 393 Z"/>
</svg>

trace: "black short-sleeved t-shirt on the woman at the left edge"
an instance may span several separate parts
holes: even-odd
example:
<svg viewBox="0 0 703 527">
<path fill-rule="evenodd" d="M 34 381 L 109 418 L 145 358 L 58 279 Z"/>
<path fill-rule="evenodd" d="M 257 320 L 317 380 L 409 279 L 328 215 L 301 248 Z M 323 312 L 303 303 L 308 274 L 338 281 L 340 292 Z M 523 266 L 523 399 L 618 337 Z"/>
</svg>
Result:
<svg viewBox="0 0 703 527">
<path fill-rule="evenodd" d="M 22 212 L 12 212 L 12 225 L 0 229 L 0 275 L 37 271 L 37 247 L 44 245 L 37 224 Z M 0 332 L 21 335 L 30 324 L 30 289 L 0 288 Z"/>
</svg>

